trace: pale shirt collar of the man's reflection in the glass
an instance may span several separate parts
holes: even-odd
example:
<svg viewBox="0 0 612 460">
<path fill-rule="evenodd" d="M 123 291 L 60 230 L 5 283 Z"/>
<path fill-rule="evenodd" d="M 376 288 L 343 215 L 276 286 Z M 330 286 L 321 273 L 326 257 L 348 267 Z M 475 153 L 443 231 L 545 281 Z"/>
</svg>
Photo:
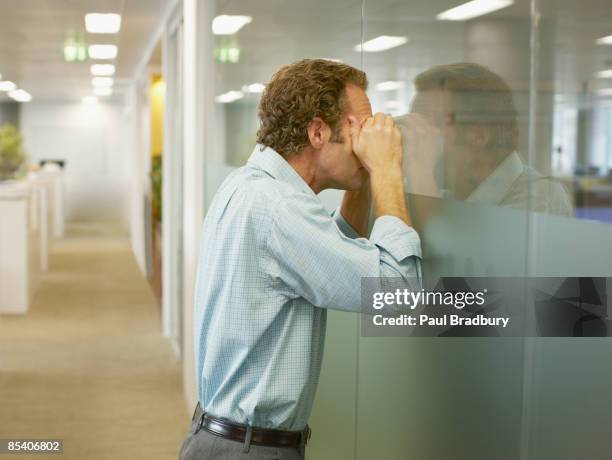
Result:
<svg viewBox="0 0 612 460">
<path fill-rule="evenodd" d="M 466 201 L 481 204 L 500 204 L 512 184 L 525 172 L 518 153 L 512 152 L 482 181 Z"/>
</svg>

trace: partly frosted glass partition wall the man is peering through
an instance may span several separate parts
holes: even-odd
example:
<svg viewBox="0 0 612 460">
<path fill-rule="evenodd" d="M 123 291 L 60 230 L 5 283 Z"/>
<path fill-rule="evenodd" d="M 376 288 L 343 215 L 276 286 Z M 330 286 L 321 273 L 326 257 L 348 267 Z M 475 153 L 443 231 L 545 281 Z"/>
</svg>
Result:
<svg viewBox="0 0 612 460">
<path fill-rule="evenodd" d="M 426 276 L 612 275 L 609 1 L 233 0 L 215 15 L 247 18 L 210 25 L 207 204 L 252 152 L 274 71 L 338 59 L 402 129 Z M 322 193 L 330 210 L 340 197 Z M 567 334 L 528 316 L 527 338 L 371 338 L 329 310 L 308 457 L 610 458 L 609 339 L 529 338 L 607 335 L 606 317 Z"/>
</svg>

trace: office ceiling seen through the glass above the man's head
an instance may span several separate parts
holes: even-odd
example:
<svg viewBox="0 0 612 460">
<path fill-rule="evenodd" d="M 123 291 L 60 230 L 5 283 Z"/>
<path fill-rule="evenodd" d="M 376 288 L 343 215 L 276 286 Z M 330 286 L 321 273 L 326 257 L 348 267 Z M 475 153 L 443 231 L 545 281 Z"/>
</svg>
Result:
<svg viewBox="0 0 612 460">
<path fill-rule="evenodd" d="M 515 0 L 473 21 L 436 20 L 436 14 L 465 0 L 218 0 L 216 14 L 253 17 L 236 36 L 241 63 L 220 64 L 221 91 L 265 82 L 281 65 L 302 57 L 328 57 L 361 66 L 372 83 L 400 79 L 436 65 L 474 61 L 525 89 L 530 76 L 531 0 Z M 594 72 L 612 68 L 612 46 L 595 39 L 612 35 L 610 0 L 538 0 L 541 19 L 538 79 L 543 87 L 595 88 Z M 354 51 L 378 35 L 409 42 L 383 53 Z M 220 38 L 217 39 L 220 43 Z"/>
</svg>

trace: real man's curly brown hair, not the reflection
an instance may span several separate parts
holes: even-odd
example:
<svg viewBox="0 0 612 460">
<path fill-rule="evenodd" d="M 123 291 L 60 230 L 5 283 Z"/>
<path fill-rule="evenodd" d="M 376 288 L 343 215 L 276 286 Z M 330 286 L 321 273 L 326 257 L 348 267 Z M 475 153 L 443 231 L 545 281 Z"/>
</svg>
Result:
<svg viewBox="0 0 612 460">
<path fill-rule="evenodd" d="M 365 91 L 365 72 L 326 59 L 303 59 L 280 68 L 259 102 L 257 142 L 283 156 L 300 152 L 310 145 L 307 128 L 315 117 L 330 126 L 332 141 L 339 141 L 349 83 Z"/>
</svg>

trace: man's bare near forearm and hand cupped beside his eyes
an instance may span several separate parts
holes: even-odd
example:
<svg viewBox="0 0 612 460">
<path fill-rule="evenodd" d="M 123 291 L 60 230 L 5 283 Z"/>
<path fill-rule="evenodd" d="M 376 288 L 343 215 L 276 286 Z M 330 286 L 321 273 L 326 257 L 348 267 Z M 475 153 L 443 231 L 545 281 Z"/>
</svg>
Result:
<svg viewBox="0 0 612 460">
<path fill-rule="evenodd" d="M 370 174 L 376 216 L 396 216 L 410 225 L 404 196 L 402 135 L 390 115 L 377 113 L 363 127 L 350 116 L 353 152 Z"/>
</svg>

